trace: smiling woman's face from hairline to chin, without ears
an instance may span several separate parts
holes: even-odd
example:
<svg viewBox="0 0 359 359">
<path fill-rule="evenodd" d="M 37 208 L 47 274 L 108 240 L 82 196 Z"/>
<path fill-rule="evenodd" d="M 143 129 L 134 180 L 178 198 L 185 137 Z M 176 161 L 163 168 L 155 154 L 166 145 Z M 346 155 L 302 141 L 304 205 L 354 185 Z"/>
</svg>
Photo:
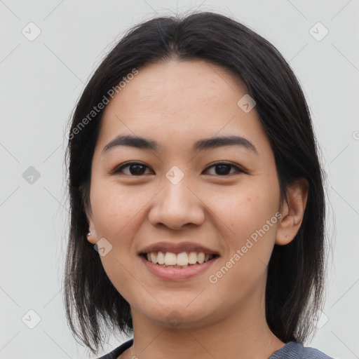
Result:
<svg viewBox="0 0 359 359">
<path fill-rule="evenodd" d="M 89 241 L 102 238 L 104 270 L 134 316 L 194 327 L 263 299 L 280 191 L 255 107 L 238 105 L 245 93 L 221 67 L 168 61 L 140 69 L 104 111 Z M 149 144 L 113 142 L 126 135 Z"/>
</svg>

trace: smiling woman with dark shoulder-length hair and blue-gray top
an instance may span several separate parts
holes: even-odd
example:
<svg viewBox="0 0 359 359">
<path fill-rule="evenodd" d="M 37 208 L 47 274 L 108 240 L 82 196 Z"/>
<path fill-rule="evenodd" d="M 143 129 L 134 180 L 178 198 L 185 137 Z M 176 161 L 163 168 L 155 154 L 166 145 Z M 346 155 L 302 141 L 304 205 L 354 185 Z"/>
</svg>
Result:
<svg viewBox="0 0 359 359">
<path fill-rule="evenodd" d="M 323 171 L 268 41 L 215 13 L 155 18 L 103 60 L 69 132 L 69 325 L 102 358 L 329 358 Z M 89 232 L 89 233 L 88 233 Z"/>
</svg>

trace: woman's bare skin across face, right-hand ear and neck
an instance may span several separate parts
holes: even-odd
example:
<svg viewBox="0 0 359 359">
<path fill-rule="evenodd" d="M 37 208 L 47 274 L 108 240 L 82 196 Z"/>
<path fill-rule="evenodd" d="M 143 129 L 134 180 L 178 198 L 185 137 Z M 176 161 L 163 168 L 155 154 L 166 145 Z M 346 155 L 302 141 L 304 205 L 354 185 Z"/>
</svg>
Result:
<svg viewBox="0 0 359 359">
<path fill-rule="evenodd" d="M 273 245 L 289 243 L 299 230 L 308 188 L 299 179 L 287 189 L 290 206 L 280 201 L 273 151 L 257 112 L 237 104 L 245 93 L 222 67 L 170 60 L 140 69 L 104 111 L 92 163 L 88 241 L 111 243 L 101 261 L 133 313 L 134 345 L 121 359 L 265 359 L 284 345 L 265 320 L 267 264 Z M 122 146 L 102 155 L 120 134 L 156 140 L 162 149 Z M 196 140 L 216 135 L 245 137 L 257 154 L 238 146 L 191 150 Z M 128 161 L 144 164 L 144 174 L 129 167 L 111 173 Z M 229 167 L 222 175 L 213 163 L 223 161 L 247 172 Z M 184 173 L 178 184 L 165 177 L 174 165 Z M 280 219 L 210 283 L 208 277 L 276 212 Z M 163 280 L 137 255 L 159 241 L 201 243 L 220 257 L 190 280 Z M 173 311 L 177 326 L 167 319 Z"/>
</svg>

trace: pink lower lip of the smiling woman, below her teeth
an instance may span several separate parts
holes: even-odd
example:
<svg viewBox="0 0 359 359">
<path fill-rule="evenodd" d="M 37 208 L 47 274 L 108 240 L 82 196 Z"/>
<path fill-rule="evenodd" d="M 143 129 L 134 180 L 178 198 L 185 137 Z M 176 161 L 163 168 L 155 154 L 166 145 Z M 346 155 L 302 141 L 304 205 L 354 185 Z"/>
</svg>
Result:
<svg viewBox="0 0 359 359">
<path fill-rule="evenodd" d="M 198 274 L 203 273 L 207 269 L 212 266 L 212 264 L 216 261 L 217 258 L 211 259 L 208 262 L 203 264 L 196 264 L 194 266 L 189 266 L 187 268 L 170 268 L 165 266 L 160 266 L 158 264 L 154 264 L 149 262 L 144 257 L 140 257 L 142 263 L 149 269 L 151 273 L 153 273 L 158 278 L 166 279 L 166 280 L 184 280 L 193 278 L 194 276 L 198 276 Z"/>
</svg>

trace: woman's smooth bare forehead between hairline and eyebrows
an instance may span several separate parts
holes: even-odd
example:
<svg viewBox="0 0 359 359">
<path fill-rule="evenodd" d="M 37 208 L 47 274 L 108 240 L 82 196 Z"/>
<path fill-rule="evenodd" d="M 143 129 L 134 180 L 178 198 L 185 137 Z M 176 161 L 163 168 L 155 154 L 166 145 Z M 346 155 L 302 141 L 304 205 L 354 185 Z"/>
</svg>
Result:
<svg viewBox="0 0 359 359">
<path fill-rule="evenodd" d="M 139 69 L 109 102 L 97 144 L 103 149 L 120 133 L 156 138 L 177 148 L 215 135 L 265 141 L 255 109 L 245 113 L 238 107 L 245 94 L 238 78 L 217 65 L 203 60 L 157 62 Z"/>
</svg>

